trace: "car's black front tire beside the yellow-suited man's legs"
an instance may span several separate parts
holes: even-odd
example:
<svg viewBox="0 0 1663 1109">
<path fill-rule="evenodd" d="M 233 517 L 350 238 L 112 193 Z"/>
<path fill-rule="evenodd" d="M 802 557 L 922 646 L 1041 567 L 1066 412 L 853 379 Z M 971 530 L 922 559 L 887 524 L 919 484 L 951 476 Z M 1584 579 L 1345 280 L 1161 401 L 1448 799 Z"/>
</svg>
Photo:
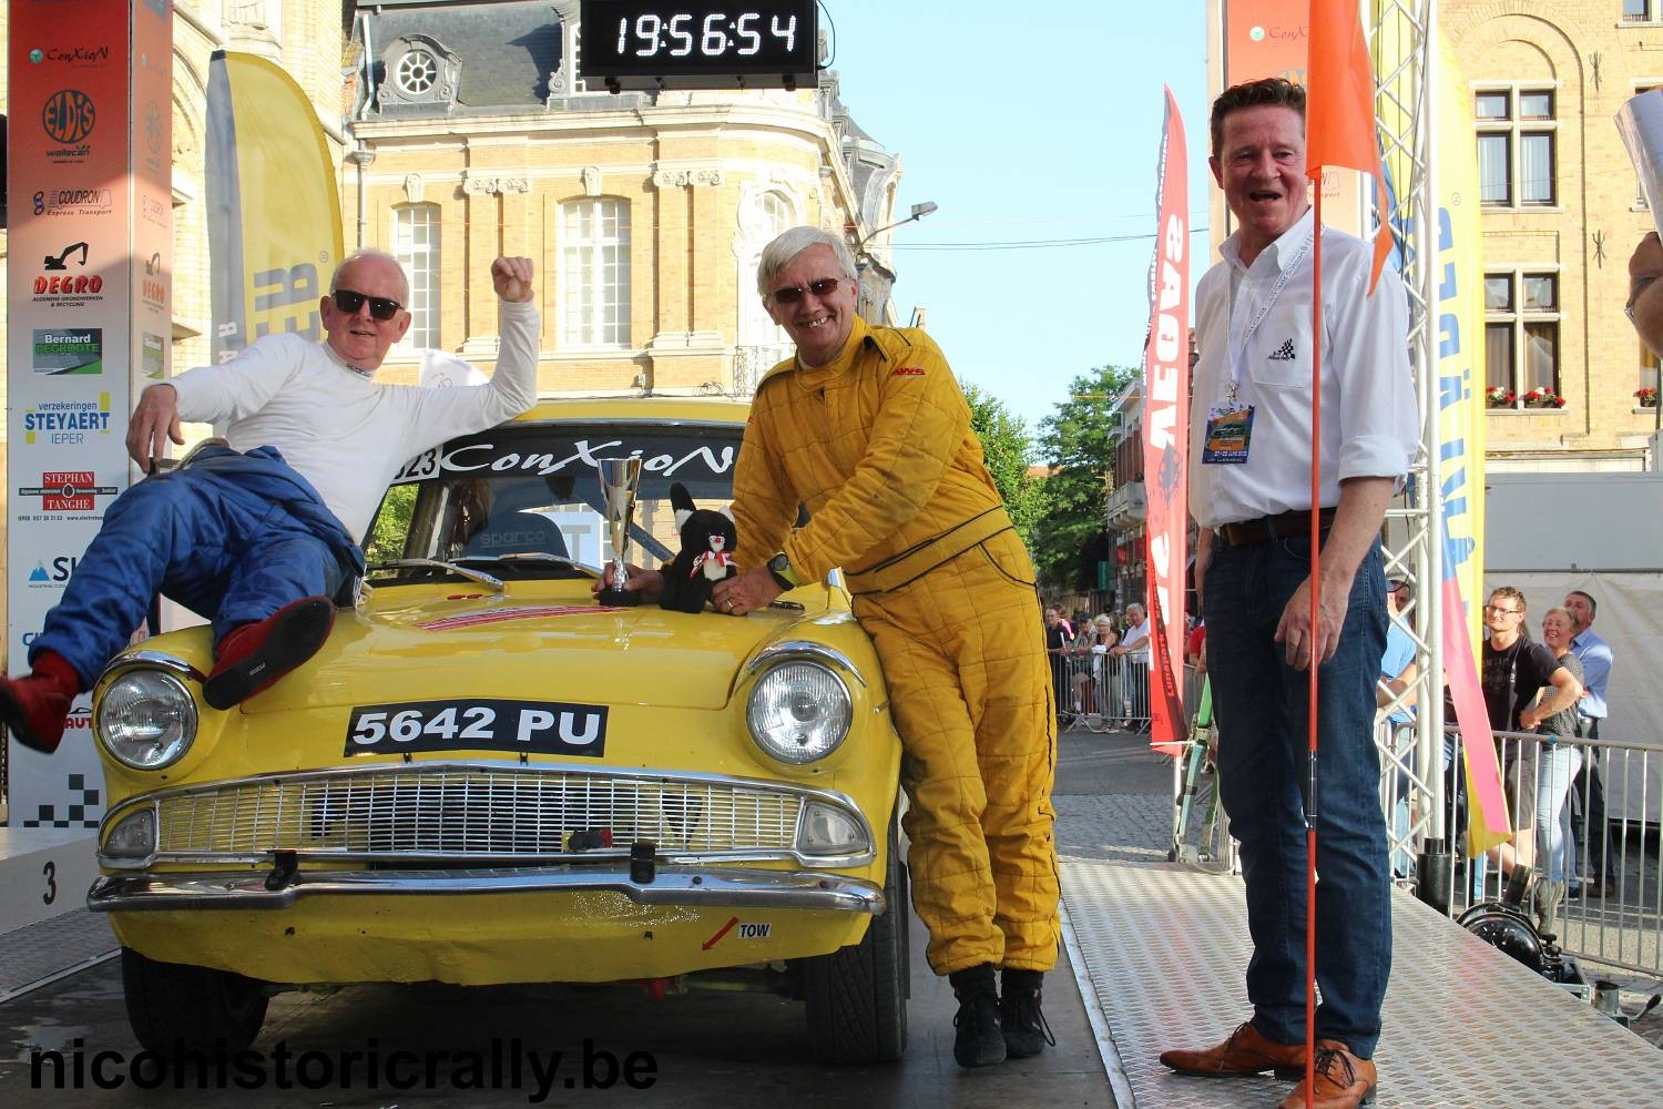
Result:
<svg viewBox="0 0 1663 1109">
<path fill-rule="evenodd" d="M 886 908 L 860 943 L 802 963 L 808 1038 L 822 1062 L 896 1062 L 906 1052 L 906 998 L 911 989 L 906 865 L 890 820 Z"/>
</svg>

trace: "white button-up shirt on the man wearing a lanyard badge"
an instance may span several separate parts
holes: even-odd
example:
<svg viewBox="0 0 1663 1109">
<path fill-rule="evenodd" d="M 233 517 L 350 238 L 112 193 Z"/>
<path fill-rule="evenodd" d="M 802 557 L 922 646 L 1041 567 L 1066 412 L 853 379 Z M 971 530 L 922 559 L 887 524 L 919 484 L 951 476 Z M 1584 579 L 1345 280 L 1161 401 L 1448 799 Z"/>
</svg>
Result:
<svg viewBox="0 0 1663 1109">
<path fill-rule="evenodd" d="M 1419 416 L 1409 369 L 1409 304 L 1392 269 L 1369 296 L 1372 246 L 1322 228 L 1322 494 L 1310 504 L 1310 234 L 1304 218 L 1242 266 L 1237 236 L 1196 284 L 1201 361 L 1191 394 L 1189 510 L 1202 527 L 1334 507 L 1349 477 L 1402 477 Z M 1292 266 L 1281 294 L 1272 289 Z M 1262 319 L 1261 319 L 1262 311 Z M 1249 336 L 1252 321 L 1259 326 Z M 1237 404 L 1254 406 L 1242 464 L 1202 464 L 1212 409 L 1237 359 Z"/>
</svg>

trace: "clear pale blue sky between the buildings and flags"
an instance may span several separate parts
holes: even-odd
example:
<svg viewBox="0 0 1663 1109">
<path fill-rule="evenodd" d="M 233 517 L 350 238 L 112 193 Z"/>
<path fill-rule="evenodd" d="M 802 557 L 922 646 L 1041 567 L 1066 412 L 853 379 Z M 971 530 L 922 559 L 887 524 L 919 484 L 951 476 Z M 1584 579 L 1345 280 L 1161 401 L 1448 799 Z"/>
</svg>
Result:
<svg viewBox="0 0 1663 1109">
<path fill-rule="evenodd" d="M 1162 85 L 1189 133 L 1192 278 L 1206 256 L 1201 0 L 827 0 L 841 96 L 901 156 L 895 309 L 926 309 L 960 381 L 1029 434 L 1093 366 L 1137 366 L 1149 323 Z M 825 12 L 822 12 L 825 23 Z M 945 244 L 1123 241 L 1026 249 Z"/>
</svg>

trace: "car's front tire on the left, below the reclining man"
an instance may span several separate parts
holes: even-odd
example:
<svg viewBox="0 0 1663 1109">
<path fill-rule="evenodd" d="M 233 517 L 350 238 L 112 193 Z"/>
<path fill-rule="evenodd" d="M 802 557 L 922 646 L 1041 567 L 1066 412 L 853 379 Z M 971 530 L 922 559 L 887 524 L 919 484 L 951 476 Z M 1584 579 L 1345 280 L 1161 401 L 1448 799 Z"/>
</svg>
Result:
<svg viewBox="0 0 1663 1109">
<path fill-rule="evenodd" d="M 145 1051 L 243 1051 L 266 1019 L 264 988 L 251 978 L 206 966 L 156 963 L 121 948 L 126 1023 Z"/>
</svg>

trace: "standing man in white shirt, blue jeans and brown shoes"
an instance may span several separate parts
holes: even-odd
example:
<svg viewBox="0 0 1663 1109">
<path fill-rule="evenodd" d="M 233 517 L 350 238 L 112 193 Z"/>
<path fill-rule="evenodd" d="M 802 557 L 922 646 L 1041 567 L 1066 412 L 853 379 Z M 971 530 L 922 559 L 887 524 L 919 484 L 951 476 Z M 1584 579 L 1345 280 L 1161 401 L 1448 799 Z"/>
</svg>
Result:
<svg viewBox="0 0 1663 1109">
<path fill-rule="evenodd" d="M 1191 514 L 1196 589 L 1219 720 L 1219 785 L 1247 885 L 1252 1019 L 1204 1051 L 1167 1051 L 1201 1076 L 1304 1071 L 1305 795 L 1310 667 L 1320 667 L 1314 1096 L 1350 1109 L 1370 1061 L 1392 966 L 1390 871 L 1374 747 L 1385 650 L 1380 524 L 1415 451 L 1402 283 L 1369 294 L 1372 251 L 1322 231 L 1322 436 L 1312 442 L 1312 231 L 1305 93 L 1281 78 L 1212 103 L 1212 176 L 1236 216 L 1224 261 L 1196 289 Z M 1320 499 L 1312 504 L 1312 452 Z M 1322 542 L 1310 612 L 1310 534 Z M 1282 1102 L 1305 1104 L 1300 1082 Z"/>
</svg>

